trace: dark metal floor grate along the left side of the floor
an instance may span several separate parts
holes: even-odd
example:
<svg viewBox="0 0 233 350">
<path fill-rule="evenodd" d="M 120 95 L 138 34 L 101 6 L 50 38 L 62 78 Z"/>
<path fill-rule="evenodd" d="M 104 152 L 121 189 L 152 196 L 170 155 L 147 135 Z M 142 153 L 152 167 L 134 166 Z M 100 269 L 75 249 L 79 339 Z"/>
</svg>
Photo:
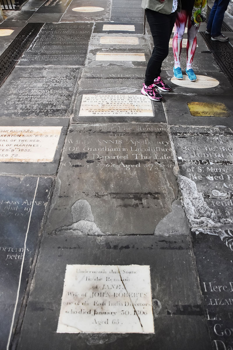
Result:
<svg viewBox="0 0 233 350">
<path fill-rule="evenodd" d="M 0 56 L 0 86 L 15 68 L 24 51 L 35 39 L 44 23 L 28 23 Z"/>
</svg>

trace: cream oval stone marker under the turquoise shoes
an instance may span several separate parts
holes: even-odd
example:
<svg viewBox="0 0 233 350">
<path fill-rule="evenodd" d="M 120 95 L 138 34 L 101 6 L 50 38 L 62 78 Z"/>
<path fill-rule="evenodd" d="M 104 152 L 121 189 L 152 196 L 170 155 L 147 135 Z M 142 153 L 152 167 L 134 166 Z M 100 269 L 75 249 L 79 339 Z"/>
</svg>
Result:
<svg viewBox="0 0 233 350">
<path fill-rule="evenodd" d="M 183 87 L 192 87 L 193 89 L 209 89 L 219 85 L 217 79 L 206 77 L 205 75 L 197 75 L 196 82 L 190 82 L 187 75 L 183 75 L 183 80 L 172 77 L 171 82 Z"/>
</svg>

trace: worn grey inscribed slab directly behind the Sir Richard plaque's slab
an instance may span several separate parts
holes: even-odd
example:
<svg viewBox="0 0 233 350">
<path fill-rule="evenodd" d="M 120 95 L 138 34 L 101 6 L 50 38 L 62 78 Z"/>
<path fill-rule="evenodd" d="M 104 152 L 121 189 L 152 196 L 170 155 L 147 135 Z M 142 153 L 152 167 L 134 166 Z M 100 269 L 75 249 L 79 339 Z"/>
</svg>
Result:
<svg viewBox="0 0 233 350">
<path fill-rule="evenodd" d="M 79 68 L 16 67 L 0 90 L 3 118 L 66 117 Z"/>
</svg>

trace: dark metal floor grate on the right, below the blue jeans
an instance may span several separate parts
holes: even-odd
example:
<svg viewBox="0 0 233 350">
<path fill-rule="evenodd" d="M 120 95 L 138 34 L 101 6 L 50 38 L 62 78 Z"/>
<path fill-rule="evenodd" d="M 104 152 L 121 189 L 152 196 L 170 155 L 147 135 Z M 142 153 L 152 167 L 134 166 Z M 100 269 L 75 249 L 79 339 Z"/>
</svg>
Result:
<svg viewBox="0 0 233 350">
<path fill-rule="evenodd" d="M 233 86 L 233 47 L 230 43 L 212 41 L 211 36 L 200 32 L 216 62 Z"/>
</svg>

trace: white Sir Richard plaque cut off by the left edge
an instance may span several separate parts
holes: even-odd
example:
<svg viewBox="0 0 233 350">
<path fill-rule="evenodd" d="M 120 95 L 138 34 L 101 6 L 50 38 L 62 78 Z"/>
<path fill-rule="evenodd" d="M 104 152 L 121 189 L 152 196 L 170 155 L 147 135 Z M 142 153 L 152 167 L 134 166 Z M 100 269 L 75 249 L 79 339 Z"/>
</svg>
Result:
<svg viewBox="0 0 233 350">
<path fill-rule="evenodd" d="M 2 126 L 0 162 L 52 162 L 61 126 Z"/>
</svg>

